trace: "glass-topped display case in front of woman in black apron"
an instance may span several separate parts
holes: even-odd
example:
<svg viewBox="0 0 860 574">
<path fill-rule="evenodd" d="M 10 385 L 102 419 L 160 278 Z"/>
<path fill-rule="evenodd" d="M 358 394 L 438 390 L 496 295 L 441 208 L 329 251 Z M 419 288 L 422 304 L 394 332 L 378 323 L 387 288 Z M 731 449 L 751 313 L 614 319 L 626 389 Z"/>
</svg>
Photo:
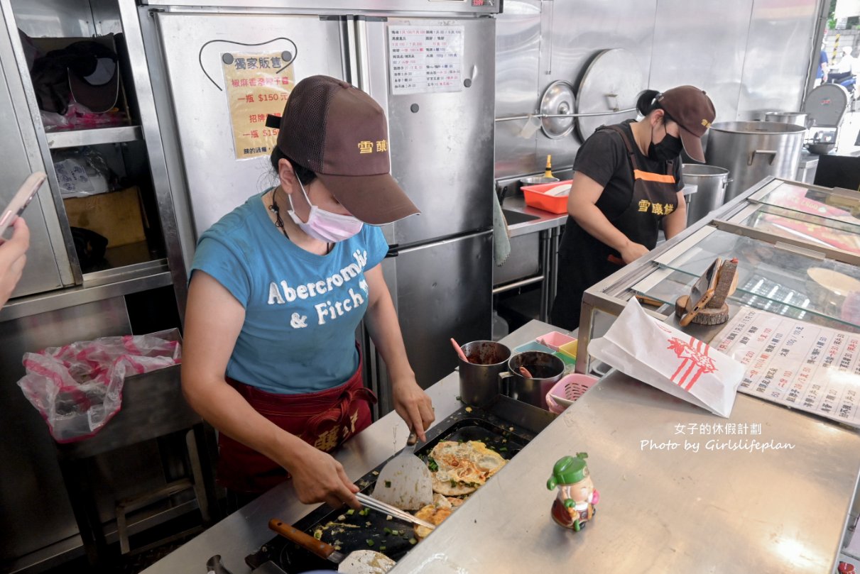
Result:
<svg viewBox="0 0 860 574">
<path fill-rule="evenodd" d="M 738 260 L 731 314 L 746 305 L 860 333 L 860 193 L 769 177 L 587 290 L 581 348 L 605 333 L 632 296 L 674 321 L 675 301 L 717 257 Z M 721 327 L 692 328 L 710 340 Z"/>
</svg>

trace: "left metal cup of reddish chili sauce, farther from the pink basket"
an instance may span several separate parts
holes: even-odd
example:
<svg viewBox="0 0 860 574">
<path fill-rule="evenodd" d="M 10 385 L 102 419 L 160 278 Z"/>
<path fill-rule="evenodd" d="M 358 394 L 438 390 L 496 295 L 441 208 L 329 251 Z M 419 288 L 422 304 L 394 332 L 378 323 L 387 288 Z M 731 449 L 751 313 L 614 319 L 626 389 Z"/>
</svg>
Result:
<svg viewBox="0 0 860 574">
<path fill-rule="evenodd" d="M 468 362 L 458 357 L 460 400 L 484 406 L 499 394 L 499 375 L 507 370 L 511 350 L 495 341 L 472 341 L 460 345 Z"/>
</svg>

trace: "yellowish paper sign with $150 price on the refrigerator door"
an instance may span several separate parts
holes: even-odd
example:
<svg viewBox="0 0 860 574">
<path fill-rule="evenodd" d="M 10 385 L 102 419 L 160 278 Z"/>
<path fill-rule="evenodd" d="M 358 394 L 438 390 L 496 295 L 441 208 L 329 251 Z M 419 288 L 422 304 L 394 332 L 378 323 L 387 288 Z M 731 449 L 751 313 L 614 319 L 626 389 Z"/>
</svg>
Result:
<svg viewBox="0 0 860 574">
<path fill-rule="evenodd" d="M 221 54 L 237 159 L 268 156 L 277 142 L 278 130 L 266 127 L 266 116 L 283 113 L 295 84 L 282 53 Z"/>
</svg>

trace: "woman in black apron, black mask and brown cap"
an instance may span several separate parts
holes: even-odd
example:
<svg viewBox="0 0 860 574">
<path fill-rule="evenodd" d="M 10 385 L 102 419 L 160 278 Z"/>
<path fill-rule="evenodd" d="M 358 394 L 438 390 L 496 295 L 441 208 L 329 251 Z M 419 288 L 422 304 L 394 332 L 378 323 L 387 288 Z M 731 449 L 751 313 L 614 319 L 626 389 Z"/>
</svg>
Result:
<svg viewBox="0 0 860 574">
<path fill-rule="evenodd" d="M 551 321 L 580 324 L 582 294 L 686 226 L 681 150 L 704 162 L 701 138 L 716 116 L 703 90 L 646 90 L 636 109 L 644 118 L 601 126 L 574 160 L 568 221 L 559 248 Z"/>
</svg>

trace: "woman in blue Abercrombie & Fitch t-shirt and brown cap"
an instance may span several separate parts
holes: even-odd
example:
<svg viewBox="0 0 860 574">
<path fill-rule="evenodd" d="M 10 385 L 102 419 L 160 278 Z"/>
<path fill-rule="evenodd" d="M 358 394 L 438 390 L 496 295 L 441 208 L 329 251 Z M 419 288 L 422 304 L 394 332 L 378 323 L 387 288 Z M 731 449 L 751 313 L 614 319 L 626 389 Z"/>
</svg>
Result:
<svg viewBox="0 0 860 574">
<path fill-rule="evenodd" d="M 415 382 L 379 266 L 376 225 L 418 213 L 390 176 L 384 112 L 328 76 L 292 89 L 272 163 L 279 185 L 200 237 L 188 289 L 182 388 L 218 429 L 233 505 L 292 477 L 305 504 L 359 508 L 328 455 L 371 423 L 355 330 L 364 319 L 396 412 L 423 440 L 433 406 Z M 365 224 L 367 223 L 367 224 Z"/>
</svg>

